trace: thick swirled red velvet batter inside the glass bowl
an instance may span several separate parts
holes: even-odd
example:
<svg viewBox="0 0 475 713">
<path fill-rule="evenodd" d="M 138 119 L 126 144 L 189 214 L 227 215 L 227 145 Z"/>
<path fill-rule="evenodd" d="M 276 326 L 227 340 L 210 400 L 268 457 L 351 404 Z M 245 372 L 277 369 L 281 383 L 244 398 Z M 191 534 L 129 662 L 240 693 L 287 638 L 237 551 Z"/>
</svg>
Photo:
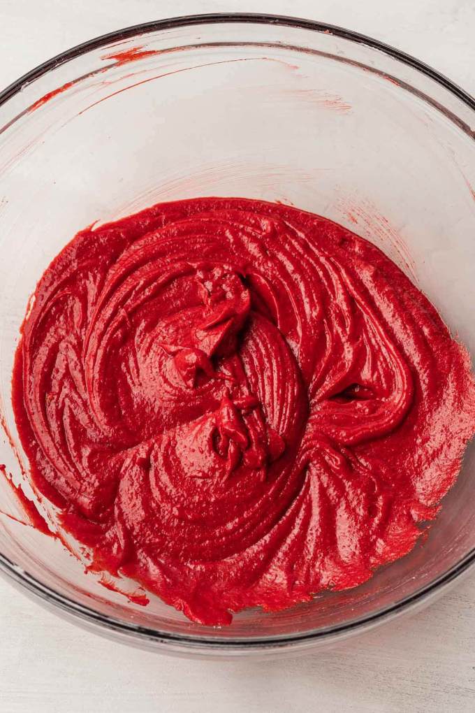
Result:
<svg viewBox="0 0 475 713">
<path fill-rule="evenodd" d="M 475 430 L 469 357 L 394 263 L 253 200 L 76 235 L 13 385 L 31 478 L 93 566 L 213 625 L 409 552 Z"/>
</svg>

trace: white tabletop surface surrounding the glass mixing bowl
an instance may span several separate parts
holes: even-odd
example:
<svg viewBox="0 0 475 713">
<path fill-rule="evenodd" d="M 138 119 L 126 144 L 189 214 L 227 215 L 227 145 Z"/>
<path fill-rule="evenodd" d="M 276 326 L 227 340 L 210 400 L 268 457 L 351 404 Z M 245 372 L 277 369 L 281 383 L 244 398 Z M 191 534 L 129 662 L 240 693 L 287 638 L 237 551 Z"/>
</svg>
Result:
<svg viewBox="0 0 475 713">
<path fill-rule="evenodd" d="M 0 0 L 0 88 L 90 37 L 160 17 L 252 11 L 372 35 L 475 94 L 475 0 Z M 338 650 L 276 662 L 136 651 L 63 622 L 0 580 L 2 713 L 475 711 L 475 577 Z"/>
</svg>

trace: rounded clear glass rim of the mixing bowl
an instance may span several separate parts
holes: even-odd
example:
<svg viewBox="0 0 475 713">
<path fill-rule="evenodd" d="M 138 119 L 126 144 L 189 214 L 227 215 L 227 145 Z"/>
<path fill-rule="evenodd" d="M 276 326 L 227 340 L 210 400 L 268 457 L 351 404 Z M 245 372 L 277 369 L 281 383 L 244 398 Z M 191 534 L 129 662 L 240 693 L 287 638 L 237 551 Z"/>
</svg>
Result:
<svg viewBox="0 0 475 713">
<path fill-rule="evenodd" d="M 71 61 L 82 54 L 96 48 L 107 46 L 111 42 L 118 42 L 130 39 L 133 36 L 145 35 L 151 32 L 174 29 L 186 26 L 195 26 L 201 24 L 271 24 L 277 26 L 289 26 L 297 29 L 306 29 L 315 31 L 320 34 L 330 34 L 341 39 L 347 39 L 357 44 L 368 46 L 372 49 L 377 49 L 382 53 L 404 63 L 413 69 L 422 73 L 424 76 L 432 79 L 440 86 L 445 88 L 451 94 L 461 100 L 466 106 L 475 112 L 475 98 L 468 92 L 464 91 L 456 83 L 452 82 L 439 73 L 434 68 L 428 66 L 417 58 L 414 58 L 408 53 L 402 52 L 386 43 L 373 39 L 372 37 L 351 31 L 340 26 L 326 24 L 319 21 L 301 19 L 292 16 L 261 14 L 261 13 L 210 13 L 210 14 L 192 14 L 185 16 L 177 16 L 168 19 L 160 19 L 142 24 L 132 25 L 100 35 L 83 43 L 73 46 L 68 50 L 48 59 L 39 64 L 31 71 L 28 71 L 16 81 L 6 86 L 3 91 L 0 91 L 0 106 L 4 105 L 9 99 L 28 84 L 40 78 L 48 71 Z M 475 133 L 471 132 L 471 138 L 475 139 Z M 269 648 L 292 647 L 298 645 L 306 645 L 311 642 L 323 640 L 326 638 L 343 637 L 357 630 L 372 627 L 377 623 L 392 619 L 395 615 L 413 609 L 418 603 L 429 599 L 436 592 L 441 591 L 449 585 L 449 583 L 459 578 L 463 573 L 466 573 L 472 565 L 475 564 L 475 548 L 464 555 L 459 562 L 454 564 L 447 572 L 439 575 L 427 585 L 416 590 L 409 597 L 404 597 L 391 605 L 381 607 L 379 610 L 367 615 L 362 615 L 354 620 L 350 620 L 343 624 L 330 625 L 318 630 L 310 630 L 303 633 L 290 633 L 283 635 L 271 635 L 268 637 L 236 637 L 229 638 L 226 635 L 221 636 L 202 636 L 202 635 L 183 635 L 179 633 L 171 633 L 142 627 L 132 623 L 125 622 L 119 618 L 110 617 L 102 614 L 92 607 L 75 602 L 73 599 L 62 595 L 47 585 L 44 585 L 32 575 L 23 570 L 19 565 L 16 565 L 6 555 L 0 552 L 0 573 L 11 580 L 11 583 L 17 585 L 21 590 L 29 593 L 34 599 L 40 600 L 44 605 L 49 605 L 53 609 L 60 609 L 66 615 L 69 615 L 73 620 L 81 620 L 85 624 L 93 625 L 96 630 L 107 629 L 110 633 L 122 634 L 127 637 L 128 642 L 133 643 L 130 635 L 136 640 L 142 642 L 153 642 L 155 645 L 160 643 L 165 645 L 174 644 L 175 647 L 182 647 L 184 650 L 190 650 L 196 647 L 204 647 L 211 650 L 263 650 Z M 223 630 L 225 634 L 225 630 Z M 105 633 L 105 632 L 104 632 Z M 237 651 L 236 651 L 237 652 Z"/>
</svg>

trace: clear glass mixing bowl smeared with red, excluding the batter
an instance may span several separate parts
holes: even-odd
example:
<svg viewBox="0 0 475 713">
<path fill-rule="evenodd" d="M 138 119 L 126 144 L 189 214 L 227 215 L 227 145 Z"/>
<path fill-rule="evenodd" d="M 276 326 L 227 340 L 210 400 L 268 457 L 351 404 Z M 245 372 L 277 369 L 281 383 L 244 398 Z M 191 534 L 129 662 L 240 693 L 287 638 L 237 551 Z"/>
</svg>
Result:
<svg viewBox="0 0 475 713">
<path fill-rule="evenodd" d="M 0 95 L 0 461 L 26 482 L 11 410 L 36 281 L 83 228 L 199 195 L 288 202 L 376 242 L 475 353 L 475 102 L 350 31 L 261 15 L 192 16 L 71 49 Z M 21 468 L 20 468 L 21 465 Z M 188 655 L 316 647 L 427 602 L 475 560 L 475 447 L 427 539 L 355 590 L 230 627 L 105 589 L 57 540 L 0 515 L 0 568 L 56 612 Z M 31 488 L 24 486 L 31 498 Z M 39 503 L 43 512 L 47 503 Z M 0 478 L 0 510 L 21 510 Z M 72 543 L 74 547 L 74 543 Z M 127 588 L 128 583 L 120 583 Z"/>
</svg>

